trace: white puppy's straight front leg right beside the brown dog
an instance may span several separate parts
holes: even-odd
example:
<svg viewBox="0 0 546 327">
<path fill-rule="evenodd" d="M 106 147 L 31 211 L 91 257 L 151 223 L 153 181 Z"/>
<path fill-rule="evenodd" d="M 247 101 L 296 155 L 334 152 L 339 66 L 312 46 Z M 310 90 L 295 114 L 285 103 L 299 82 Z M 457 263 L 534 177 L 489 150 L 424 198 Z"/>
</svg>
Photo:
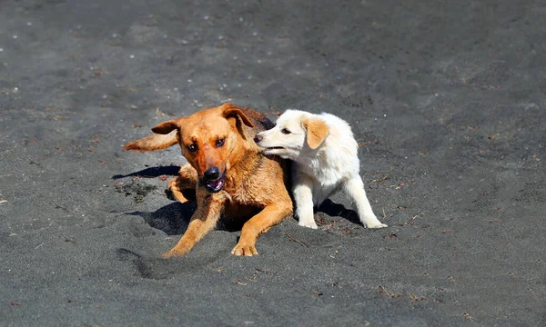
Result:
<svg viewBox="0 0 546 327">
<path fill-rule="evenodd" d="M 312 229 L 319 228 L 313 215 L 313 183 L 304 175 L 296 176 L 293 183 L 292 192 L 296 202 L 298 225 Z"/>
</svg>

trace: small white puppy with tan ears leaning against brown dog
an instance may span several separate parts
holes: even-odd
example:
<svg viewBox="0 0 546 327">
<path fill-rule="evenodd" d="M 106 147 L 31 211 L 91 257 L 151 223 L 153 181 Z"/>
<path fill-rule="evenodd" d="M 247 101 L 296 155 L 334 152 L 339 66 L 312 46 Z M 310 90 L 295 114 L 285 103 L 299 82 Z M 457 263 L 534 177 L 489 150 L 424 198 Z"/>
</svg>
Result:
<svg viewBox="0 0 546 327">
<path fill-rule="evenodd" d="M 316 229 L 313 206 L 342 190 L 356 204 L 364 226 L 387 227 L 371 210 L 359 175 L 359 146 L 344 120 L 333 114 L 287 110 L 275 127 L 258 134 L 255 141 L 265 148 L 264 154 L 294 162 L 292 191 L 300 226 Z"/>
</svg>

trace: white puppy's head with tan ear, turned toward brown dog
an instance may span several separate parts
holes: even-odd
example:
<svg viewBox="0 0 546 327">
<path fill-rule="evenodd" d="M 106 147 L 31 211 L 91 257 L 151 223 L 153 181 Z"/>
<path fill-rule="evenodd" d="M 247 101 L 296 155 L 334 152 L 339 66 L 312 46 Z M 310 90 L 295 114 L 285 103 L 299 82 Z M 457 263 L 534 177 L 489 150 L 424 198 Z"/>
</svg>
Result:
<svg viewBox="0 0 546 327">
<path fill-rule="evenodd" d="M 319 115 L 288 109 L 275 127 L 257 134 L 254 140 L 265 148 L 264 154 L 298 161 L 300 154 L 317 150 L 328 135 L 329 126 Z"/>
</svg>

